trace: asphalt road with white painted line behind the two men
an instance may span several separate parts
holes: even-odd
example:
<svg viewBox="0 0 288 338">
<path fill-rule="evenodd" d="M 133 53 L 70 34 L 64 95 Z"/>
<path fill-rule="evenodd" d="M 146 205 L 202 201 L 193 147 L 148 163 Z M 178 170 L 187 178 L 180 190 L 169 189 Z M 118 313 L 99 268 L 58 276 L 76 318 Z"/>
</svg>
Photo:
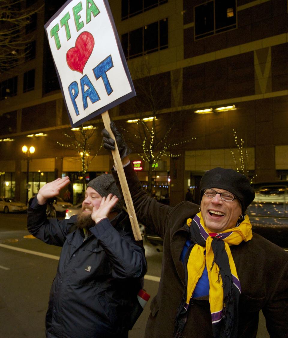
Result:
<svg viewBox="0 0 288 338">
<path fill-rule="evenodd" d="M 149 304 L 157 293 L 162 253 L 145 244 L 148 272 L 144 288 L 151 298 L 129 332 L 143 338 Z M 31 238 L 26 214 L 0 213 L 0 338 L 44 338 L 49 290 L 61 248 Z M 257 338 L 268 338 L 260 314 Z"/>
</svg>

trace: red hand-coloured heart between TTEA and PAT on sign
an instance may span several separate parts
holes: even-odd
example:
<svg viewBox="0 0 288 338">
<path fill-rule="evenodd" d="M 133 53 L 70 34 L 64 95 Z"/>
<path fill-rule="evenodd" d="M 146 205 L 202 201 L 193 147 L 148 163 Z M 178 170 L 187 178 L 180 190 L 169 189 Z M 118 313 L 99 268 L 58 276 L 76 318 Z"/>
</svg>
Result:
<svg viewBox="0 0 288 338">
<path fill-rule="evenodd" d="M 83 74 L 83 69 L 94 48 L 94 38 L 89 32 L 82 32 L 76 39 L 75 47 L 66 53 L 67 65 L 70 69 Z"/>
</svg>

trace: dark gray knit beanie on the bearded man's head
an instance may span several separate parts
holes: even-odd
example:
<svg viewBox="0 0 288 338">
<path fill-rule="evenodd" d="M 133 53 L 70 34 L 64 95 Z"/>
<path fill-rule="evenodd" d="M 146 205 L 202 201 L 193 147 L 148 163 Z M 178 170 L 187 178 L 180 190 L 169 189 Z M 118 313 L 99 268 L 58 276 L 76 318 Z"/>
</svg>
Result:
<svg viewBox="0 0 288 338">
<path fill-rule="evenodd" d="M 102 197 L 107 197 L 109 194 L 116 195 L 119 201 L 112 209 L 112 211 L 121 212 L 123 207 L 122 196 L 116 186 L 116 182 L 111 174 L 102 174 L 93 178 L 88 184 L 87 188 L 91 187 Z"/>
</svg>

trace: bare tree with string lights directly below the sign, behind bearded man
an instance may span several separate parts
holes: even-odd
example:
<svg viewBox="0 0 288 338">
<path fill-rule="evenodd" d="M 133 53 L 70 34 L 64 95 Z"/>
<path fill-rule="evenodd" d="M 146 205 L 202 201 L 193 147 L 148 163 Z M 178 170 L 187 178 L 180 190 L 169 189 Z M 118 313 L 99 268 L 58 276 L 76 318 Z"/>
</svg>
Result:
<svg viewBox="0 0 288 338">
<path fill-rule="evenodd" d="M 99 148 L 96 151 L 93 150 L 97 138 L 97 133 L 95 133 L 97 129 L 98 127 L 84 126 L 82 124 L 78 128 L 73 128 L 71 132 L 63 132 L 63 135 L 68 139 L 67 143 L 57 141 L 60 146 L 75 150 L 79 161 L 81 161 L 82 192 L 85 191 L 85 174 L 89 165 L 102 148 L 102 143 L 99 141 Z"/>
</svg>

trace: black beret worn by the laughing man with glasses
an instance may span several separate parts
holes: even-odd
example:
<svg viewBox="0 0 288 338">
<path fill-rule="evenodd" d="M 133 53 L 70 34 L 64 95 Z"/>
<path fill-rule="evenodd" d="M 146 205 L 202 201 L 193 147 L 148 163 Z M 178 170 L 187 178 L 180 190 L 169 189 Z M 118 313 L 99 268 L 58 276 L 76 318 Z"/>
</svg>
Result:
<svg viewBox="0 0 288 338">
<path fill-rule="evenodd" d="M 232 169 L 218 167 L 206 171 L 200 182 L 200 201 L 204 190 L 211 188 L 224 189 L 234 194 L 240 200 L 243 213 L 255 197 L 249 179 Z"/>
</svg>

